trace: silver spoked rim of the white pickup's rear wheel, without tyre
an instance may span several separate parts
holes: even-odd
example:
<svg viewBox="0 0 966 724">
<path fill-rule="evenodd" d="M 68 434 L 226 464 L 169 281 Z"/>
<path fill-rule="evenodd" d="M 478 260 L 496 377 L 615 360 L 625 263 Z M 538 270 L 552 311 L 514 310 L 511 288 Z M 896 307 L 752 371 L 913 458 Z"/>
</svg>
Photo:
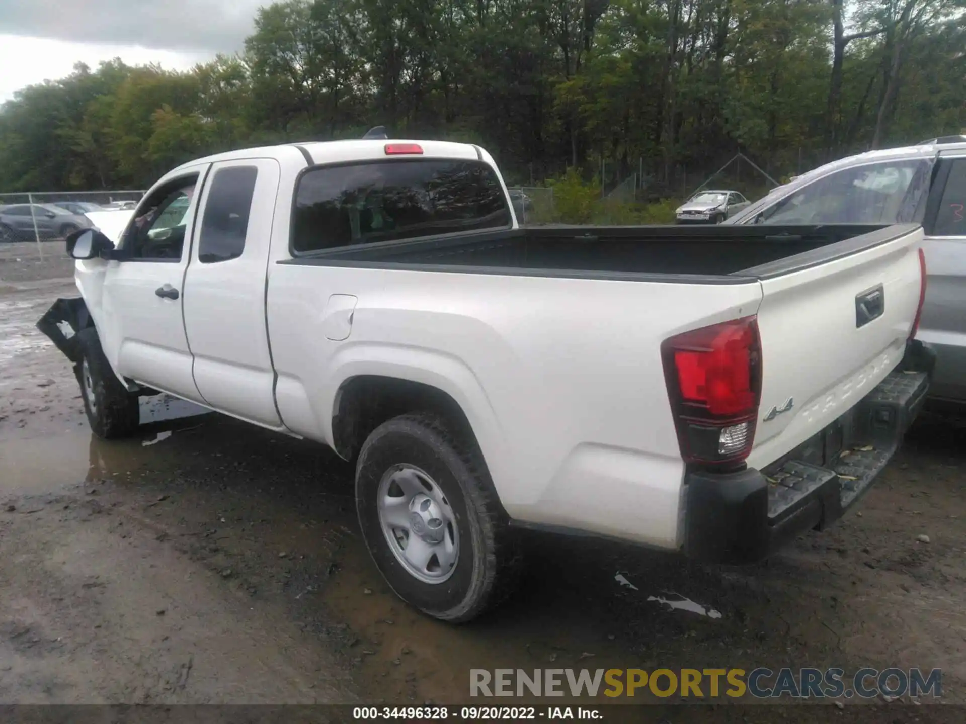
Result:
<svg viewBox="0 0 966 724">
<path fill-rule="evenodd" d="M 460 532 L 436 481 L 412 465 L 393 465 L 380 481 L 378 509 L 389 549 L 413 577 L 442 583 L 453 574 Z"/>
</svg>

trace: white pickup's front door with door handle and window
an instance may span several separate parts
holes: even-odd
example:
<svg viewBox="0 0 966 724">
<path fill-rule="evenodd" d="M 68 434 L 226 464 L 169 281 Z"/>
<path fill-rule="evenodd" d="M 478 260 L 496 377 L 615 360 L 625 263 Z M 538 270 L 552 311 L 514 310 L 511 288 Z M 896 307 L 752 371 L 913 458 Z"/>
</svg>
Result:
<svg viewBox="0 0 966 724">
<path fill-rule="evenodd" d="M 197 196 L 209 164 L 164 179 L 138 205 L 117 258 L 78 268 L 101 347 L 111 365 L 150 387 L 201 402 L 182 319 Z M 103 283 L 96 277 L 103 274 Z"/>
</svg>

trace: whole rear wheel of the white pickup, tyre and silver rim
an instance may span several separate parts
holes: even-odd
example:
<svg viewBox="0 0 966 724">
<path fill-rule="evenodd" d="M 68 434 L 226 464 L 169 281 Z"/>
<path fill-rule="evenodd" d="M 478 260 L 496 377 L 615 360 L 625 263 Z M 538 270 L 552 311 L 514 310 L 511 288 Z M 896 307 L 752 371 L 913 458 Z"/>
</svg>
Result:
<svg viewBox="0 0 966 724">
<path fill-rule="evenodd" d="M 455 427 L 410 414 L 377 428 L 359 453 L 355 505 L 396 595 L 462 623 L 509 593 L 519 561 L 482 457 Z"/>
</svg>

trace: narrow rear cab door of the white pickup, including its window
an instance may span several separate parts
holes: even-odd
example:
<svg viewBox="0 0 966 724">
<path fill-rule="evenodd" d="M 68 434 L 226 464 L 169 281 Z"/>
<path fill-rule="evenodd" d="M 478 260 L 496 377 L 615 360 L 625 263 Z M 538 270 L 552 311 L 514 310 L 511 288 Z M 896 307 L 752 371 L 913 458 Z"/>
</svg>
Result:
<svg viewBox="0 0 966 724">
<path fill-rule="evenodd" d="M 185 329 L 194 381 L 207 404 L 279 429 L 265 286 L 279 165 L 215 163 L 202 193 L 185 276 Z"/>
</svg>

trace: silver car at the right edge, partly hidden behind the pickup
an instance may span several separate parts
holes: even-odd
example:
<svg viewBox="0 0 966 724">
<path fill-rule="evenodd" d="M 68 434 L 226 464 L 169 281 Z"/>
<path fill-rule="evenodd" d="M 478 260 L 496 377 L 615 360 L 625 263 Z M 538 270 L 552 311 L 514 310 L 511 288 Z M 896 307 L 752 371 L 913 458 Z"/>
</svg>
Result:
<svg viewBox="0 0 966 724">
<path fill-rule="evenodd" d="M 775 189 L 731 224 L 923 224 L 919 339 L 938 355 L 931 394 L 966 404 L 966 137 L 849 156 Z"/>
</svg>

